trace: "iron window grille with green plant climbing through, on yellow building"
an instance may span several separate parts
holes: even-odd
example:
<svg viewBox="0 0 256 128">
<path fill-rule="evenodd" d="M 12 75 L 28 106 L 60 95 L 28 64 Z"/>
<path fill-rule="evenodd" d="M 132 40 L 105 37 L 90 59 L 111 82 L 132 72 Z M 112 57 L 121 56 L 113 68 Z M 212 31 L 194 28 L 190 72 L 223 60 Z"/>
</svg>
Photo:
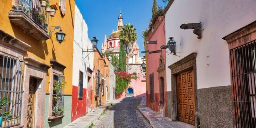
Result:
<svg viewBox="0 0 256 128">
<path fill-rule="evenodd" d="M 64 114 L 64 87 L 65 77 L 53 75 L 53 94 L 52 94 L 52 116 Z"/>
</svg>

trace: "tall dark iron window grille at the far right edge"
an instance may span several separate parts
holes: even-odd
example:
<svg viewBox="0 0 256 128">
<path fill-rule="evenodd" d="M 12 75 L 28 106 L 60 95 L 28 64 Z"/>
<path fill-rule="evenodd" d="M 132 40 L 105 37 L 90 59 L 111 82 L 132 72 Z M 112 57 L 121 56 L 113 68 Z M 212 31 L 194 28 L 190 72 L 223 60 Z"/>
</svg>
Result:
<svg viewBox="0 0 256 128">
<path fill-rule="evenodd" d="M 255 128 L 256 124 L 256 41 L 229 50 L 234 124 Z"/>
</svg>

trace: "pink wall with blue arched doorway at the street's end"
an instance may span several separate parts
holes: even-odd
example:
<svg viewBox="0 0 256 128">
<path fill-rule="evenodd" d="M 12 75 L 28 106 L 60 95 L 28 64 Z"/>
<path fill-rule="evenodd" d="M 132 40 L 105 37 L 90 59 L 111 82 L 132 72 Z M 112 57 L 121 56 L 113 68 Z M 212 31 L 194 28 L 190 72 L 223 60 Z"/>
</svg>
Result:
<svg viewBox="0 0 256 128">
<path fill-rule="evenodd" d="M 131 84 L 125 89 L 125 91 L 121 94 L 116 94 L 116 99 L 124 99 L 125 93 L 129 87 L 133 88 L 134 97 L 145 97 L 146 96 L 146 77 L 142 77 L 141 72 L 136 79 L 131 79 Z"/>
</svg>

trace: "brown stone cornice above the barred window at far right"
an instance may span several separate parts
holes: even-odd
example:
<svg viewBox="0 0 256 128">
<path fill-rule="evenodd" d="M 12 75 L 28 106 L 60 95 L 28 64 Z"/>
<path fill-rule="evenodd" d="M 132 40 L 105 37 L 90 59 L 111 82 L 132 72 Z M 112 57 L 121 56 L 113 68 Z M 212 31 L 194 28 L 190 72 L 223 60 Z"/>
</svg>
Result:
<svg viewBox="0 0 256 128">
<path fill-rule="evenodd" d="M 223 40 L 226 40 L 227 43 L 231 43 L 232 41 L 239 39 L 243 36 L 251 34 L 252 32 L 256 31 L 256 21 L 250 23 L 249 25 L 244 26 L 236 30 L 235 32 L 228 34 L 227 36 L 223 37 Z"/>
</svg>

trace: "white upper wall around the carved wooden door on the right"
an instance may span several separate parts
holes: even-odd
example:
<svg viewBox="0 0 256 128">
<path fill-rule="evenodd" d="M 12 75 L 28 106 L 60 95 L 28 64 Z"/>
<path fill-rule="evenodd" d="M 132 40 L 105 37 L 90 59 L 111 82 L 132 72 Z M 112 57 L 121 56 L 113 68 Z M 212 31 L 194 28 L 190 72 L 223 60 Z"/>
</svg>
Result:
<svg viewBox="0 0 256 128">
<path fill-rule="evenodd" d="M 255 0 L 174 0 L 165 15 L 165 38 L 167 44 L 168 38 L 174 37 L 181 58 L 166 54 L 166 67 L 197 52 L 198 89 L 231 85 L 228 44 L 222 37 L 255 21 L 255 6 Z M 202 22 L 204 29 L 201 39 L 192 29 L 180 29 L 183 23 L 198 22 Z M 167 83 L 171 83 L 169 68 L 166 74 Z M 171 91 L 171 84 L 167 91 Z"/>
</svg>

